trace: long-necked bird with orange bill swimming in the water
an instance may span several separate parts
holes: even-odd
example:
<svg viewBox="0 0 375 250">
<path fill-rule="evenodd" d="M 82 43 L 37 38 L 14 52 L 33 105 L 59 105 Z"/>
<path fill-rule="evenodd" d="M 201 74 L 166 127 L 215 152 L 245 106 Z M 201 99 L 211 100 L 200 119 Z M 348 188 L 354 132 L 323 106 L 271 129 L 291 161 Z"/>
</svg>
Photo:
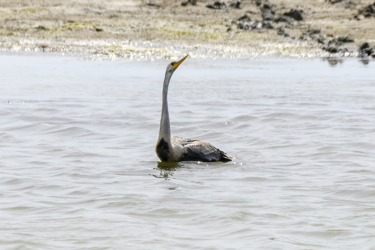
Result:
<svg viewBox="0 0 375 250">
<path fill-rule="evenodd" d="M 165 70 L 159 138 L 155 147 L 156 155 L 162 162 L 229 162 L 231 159 L 226 156 L 226 153 L 208 142 L 171 136 L 171 124 L 168 112 L 169 82 L 174 71 L 188 56 L 189 54 L 179 61 L 172 61 Z"/>
</svg>

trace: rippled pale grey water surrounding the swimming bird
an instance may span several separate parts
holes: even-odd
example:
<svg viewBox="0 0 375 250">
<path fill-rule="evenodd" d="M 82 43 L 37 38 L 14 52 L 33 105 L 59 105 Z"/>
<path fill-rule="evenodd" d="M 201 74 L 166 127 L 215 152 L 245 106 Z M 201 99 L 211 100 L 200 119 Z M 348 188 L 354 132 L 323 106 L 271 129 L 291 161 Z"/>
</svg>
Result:
<svg viewBox="0 0 375 250">
<path fill-rule="evenodd" d="M 0 249 L 375 249 L 374 62 L 187 58 L 172 135 L 233 162 L 166 164 L 169 60 L 0 58 Z"/>
</svg>

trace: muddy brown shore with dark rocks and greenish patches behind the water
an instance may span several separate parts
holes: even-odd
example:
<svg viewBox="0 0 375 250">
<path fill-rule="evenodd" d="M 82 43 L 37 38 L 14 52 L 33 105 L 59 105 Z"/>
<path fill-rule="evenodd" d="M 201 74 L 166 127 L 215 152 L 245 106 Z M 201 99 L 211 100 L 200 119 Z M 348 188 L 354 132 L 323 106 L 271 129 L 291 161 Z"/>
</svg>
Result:
<svg viewBox="0 0 375 250">
<path fill-rule="evenodd" d="M 375 58 L 374 0 L 0 0 L 0 49 L 87 58 Z"/>
</svg>

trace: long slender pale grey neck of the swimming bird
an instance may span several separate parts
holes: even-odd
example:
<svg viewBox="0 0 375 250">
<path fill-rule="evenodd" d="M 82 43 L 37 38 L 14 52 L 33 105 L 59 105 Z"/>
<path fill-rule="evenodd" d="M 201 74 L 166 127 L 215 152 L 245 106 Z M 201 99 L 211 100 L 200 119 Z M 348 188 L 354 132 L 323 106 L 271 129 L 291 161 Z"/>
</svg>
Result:
<svg viewBox="0 0 375 250">
<path fill-rule="evenodd" d="M 160 118 L 160 130 L 159 130 L 159 139 L 162 138 L 165 142 L 171 143 L 171 123 L 169 121 L 169 112 L 168 112 L 168 86 L 169 81 L 171 80 L 171 73 L 165 72 L 164 84 L 163 84 L 163 99 L 162 99 L 162 117 Z"/>
</svg>

